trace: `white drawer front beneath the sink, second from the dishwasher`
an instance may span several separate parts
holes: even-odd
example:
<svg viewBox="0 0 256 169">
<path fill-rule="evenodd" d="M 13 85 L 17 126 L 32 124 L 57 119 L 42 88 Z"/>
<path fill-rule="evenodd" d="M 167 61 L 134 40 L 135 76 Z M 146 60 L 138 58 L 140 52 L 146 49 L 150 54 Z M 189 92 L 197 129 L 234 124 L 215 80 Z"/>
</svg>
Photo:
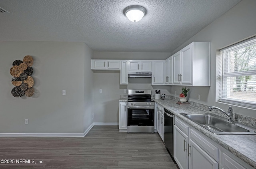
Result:
<svg viewBox="0 0 256 169">
<path fill-rule="evenodd" d="M 201 136 L 200 133 L 194 129 L 190 129 L 190 139 L 192 139 L 200 148 L 208 153 L 213 159 L 219 161 L 219 149 L 210 141 Z"/>
</svg>

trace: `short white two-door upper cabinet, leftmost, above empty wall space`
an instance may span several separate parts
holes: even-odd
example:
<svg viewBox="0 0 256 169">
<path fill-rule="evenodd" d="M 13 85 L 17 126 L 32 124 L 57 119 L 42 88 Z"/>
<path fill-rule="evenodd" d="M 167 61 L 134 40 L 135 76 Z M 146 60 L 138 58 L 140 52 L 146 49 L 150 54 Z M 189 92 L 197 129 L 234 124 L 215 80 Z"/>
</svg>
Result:
<svg viewBox="0 0 256 169">
<path fill-rule="evenodd" d="M 120 60 L 91 60 L 92 70 L 120 70 Z"/>
</svg>

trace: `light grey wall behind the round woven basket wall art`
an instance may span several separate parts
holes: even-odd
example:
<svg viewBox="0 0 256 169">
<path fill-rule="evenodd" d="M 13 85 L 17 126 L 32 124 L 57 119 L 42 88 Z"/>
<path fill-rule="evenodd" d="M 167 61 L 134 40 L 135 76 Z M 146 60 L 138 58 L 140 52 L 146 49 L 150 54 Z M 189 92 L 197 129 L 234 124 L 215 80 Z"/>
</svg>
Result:
<svg viewBox="0 0 256 169">
<path fill-rule="evenodd" d="M 84 116 L 92 109 L 84 107 L 92 102 L 92 93 L 84 95 L 85 81 L 92 86 L 91 70 L 84 64 L 92 57 L 87 50 L 84 43 L 74 42 L 0 42 L 0 133 L 83 133 L 91 124 Z M 10 68 L 26 55 L 34 58 L 36 93 L 16 98 Z M 24 119 L 29 119 L 28 125 Z"/>
</svg>

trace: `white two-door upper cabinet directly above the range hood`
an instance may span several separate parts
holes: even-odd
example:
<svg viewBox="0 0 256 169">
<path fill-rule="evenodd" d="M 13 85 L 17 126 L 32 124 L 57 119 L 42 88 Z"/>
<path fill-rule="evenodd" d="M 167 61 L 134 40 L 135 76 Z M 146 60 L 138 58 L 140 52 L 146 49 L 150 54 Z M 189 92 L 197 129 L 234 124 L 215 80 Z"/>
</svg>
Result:
<svg viewBox="0 0 256 169">
<path fill-rule="evenodd" d="M 129 72 L 152 72 L 152 61 L 148 60 L 130 60 Z"/>
</svg>

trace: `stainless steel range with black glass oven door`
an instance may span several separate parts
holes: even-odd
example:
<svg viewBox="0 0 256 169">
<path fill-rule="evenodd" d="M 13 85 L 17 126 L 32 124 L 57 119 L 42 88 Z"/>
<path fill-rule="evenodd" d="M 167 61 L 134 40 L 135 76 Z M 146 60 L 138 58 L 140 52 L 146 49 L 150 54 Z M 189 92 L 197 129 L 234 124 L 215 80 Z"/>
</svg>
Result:
<svg viewBox="0 0 256 169">
<path fill-rule="evenodd" d="M 128 89 L 127 133 L 154 133 L 154 108 L 151 90 Z"/>
</svg>

